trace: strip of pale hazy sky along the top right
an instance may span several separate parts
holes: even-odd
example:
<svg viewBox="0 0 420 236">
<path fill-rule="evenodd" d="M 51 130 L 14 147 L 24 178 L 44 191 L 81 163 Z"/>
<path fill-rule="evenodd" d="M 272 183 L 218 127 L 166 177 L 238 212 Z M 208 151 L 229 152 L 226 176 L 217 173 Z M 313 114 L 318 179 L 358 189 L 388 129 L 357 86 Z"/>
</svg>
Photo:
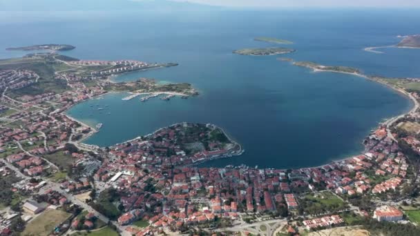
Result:
<svg viewBox="0 0 420 236">
<path fill-rule="evenodd" d="M 172 0 L 187 1 L 187 0 Z M 420 7 L 420 0 L 188 0 L 218 6 L 240 7 Z"/>
</svg>

